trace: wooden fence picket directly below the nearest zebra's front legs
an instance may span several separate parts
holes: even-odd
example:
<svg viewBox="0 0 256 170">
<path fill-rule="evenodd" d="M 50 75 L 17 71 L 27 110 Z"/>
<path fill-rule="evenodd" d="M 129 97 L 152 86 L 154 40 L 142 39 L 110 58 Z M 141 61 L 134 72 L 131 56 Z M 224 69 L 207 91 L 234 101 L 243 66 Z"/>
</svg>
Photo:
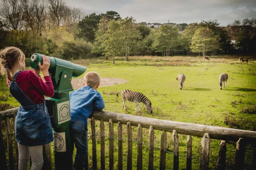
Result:
<svg viewBox="0 0 256 170">
<path fill-rule="evenodd" d="M 137 132 L 137 170 L 142 170 L 142 127 L 138 125 Z"/>
</svg>

